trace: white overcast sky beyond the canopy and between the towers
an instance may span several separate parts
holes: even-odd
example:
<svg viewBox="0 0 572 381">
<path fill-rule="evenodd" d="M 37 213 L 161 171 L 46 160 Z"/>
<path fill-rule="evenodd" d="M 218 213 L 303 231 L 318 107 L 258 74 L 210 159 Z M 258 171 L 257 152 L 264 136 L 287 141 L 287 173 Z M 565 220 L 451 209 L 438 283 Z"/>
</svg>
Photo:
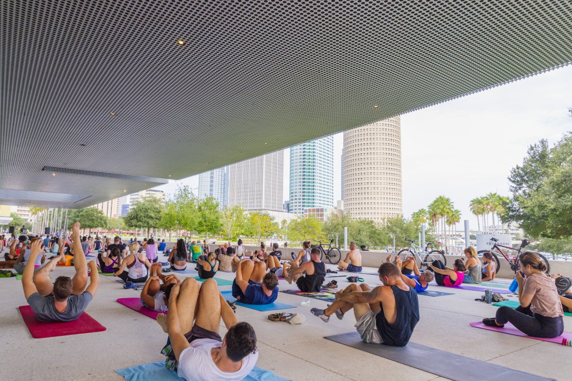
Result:
<svg viewBox="0 0 572 381">
<path fill-rule="evenodd" d="M 509 196 L 510 169 L 522 163 L 529 145 L 543 138 L 552 145 L 572 131 L 568 107 L 572 66 L 402 115 L 404 215 L 445 195 L 476 229 L 469 201 L 489 192 Z M 341 194 L 342 146 L 343 134 L 334 135 L 335 200 Z M 285 150 L 284 199 L 288 178 Z M 158 189 L 173 192 L 177 183 L 196 189 L 198 175 Z"/>
</svg>

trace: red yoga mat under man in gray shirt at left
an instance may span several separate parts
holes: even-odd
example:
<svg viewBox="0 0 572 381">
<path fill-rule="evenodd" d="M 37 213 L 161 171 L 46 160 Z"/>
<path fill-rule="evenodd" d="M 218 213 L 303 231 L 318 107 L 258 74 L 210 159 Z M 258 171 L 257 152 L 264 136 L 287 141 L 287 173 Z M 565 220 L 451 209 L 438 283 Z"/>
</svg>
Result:
<svg viewBox="0 0 572 381">
<path fill-rule="evenodd" d="M 90 332 L 105 331 L 105 327 L 85 312 L 73 322 L 40 322 L 35 318 L 30 306 L 18 307 L 26 327 L 34 339 L 53 338 L 54 336 L 67 336 L 88 334 Z"/>
</svg>

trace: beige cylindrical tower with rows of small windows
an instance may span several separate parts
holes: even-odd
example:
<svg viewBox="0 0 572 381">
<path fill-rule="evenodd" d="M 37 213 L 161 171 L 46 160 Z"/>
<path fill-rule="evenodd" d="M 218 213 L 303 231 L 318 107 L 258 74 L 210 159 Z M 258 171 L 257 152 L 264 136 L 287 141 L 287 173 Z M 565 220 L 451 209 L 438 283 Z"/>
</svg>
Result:
<svg viewBox="0 0 572 381">
<path fill-rule="evenodd" d="M 344 210 L 382 223 L 403 215 L 400 117 L 344 132 Z"/>
</svg>

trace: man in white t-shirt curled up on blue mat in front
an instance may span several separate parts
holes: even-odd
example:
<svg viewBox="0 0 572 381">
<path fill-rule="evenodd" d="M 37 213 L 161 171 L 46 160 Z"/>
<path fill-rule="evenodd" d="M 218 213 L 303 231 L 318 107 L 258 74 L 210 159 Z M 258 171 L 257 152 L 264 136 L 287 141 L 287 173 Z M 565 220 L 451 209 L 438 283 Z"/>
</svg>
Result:
<svg viewBox="0 0 572 381">
<path fill-rule="evenodd" d="M 166 315 L 157 316 L 169 334 L 161 351 L 168 369 L 187 381 L 239 381 L 252 371 L 258 359 L 254 328 L 238 322 L 215 279 L 206 279 L 202 286 L 193 278 L 176 284 L 169 306 Z M 221 318 L 228 329 L 222 339 Z"/>
</svg>

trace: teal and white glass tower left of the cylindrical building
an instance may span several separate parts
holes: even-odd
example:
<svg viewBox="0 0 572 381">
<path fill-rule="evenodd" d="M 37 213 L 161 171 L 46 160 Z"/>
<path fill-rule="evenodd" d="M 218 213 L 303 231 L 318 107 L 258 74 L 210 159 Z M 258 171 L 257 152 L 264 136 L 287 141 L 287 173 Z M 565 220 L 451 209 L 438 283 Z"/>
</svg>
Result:
<svg viewBox="0 0 572 381">
<path fill-rule="evenodd" d="M 290 205 L 295 214 L 308 208 L 333 207 L 333 137 L 290 149 Z"/>
</svg>

